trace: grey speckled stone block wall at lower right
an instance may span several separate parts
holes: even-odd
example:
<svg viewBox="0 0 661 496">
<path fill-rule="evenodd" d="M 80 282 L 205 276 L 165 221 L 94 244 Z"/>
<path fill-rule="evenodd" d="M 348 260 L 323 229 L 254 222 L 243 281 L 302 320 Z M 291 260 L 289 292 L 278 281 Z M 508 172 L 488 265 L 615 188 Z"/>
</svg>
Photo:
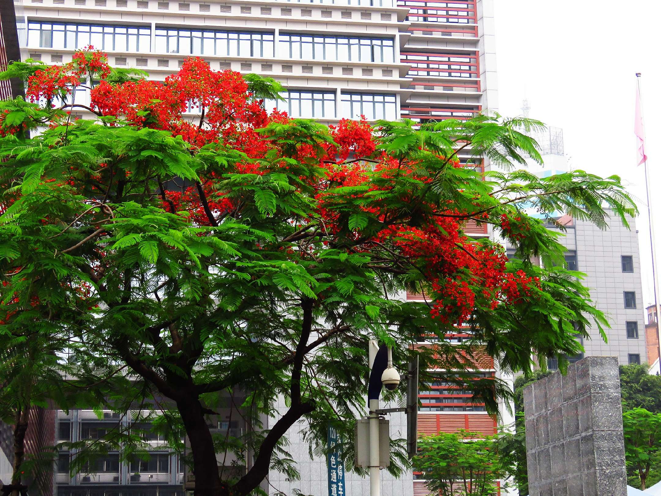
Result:
<svg viewBox="0 0 661 496">
<path fill-rule="evenodd" d="M 530 496 L 626 496 L 615 356 L 589 356 L 524 388 Z"/>
</svg>

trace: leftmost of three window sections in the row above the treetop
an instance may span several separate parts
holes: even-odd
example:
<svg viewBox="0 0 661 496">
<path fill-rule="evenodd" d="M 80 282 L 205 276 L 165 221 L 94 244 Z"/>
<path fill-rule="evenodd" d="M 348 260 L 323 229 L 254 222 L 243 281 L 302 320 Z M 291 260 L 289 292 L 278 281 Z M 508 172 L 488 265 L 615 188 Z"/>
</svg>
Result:
<svg viewBox="0 0 661 496">
<path fill-rule="evenodd" d="M 149 52 L 151 28 L 108 24 L 28 22 L 28 47 L 77 50 L 93 45 L 99 50 Z"/>
</svg>

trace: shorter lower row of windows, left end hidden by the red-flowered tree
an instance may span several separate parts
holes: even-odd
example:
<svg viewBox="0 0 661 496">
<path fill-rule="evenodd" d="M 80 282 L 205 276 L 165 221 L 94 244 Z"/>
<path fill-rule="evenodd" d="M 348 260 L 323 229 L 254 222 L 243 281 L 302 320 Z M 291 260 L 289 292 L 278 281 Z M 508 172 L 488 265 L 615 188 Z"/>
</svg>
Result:
<svg viewBox="0 0 661 496">
<path fill-rule="evenodd" d="M 277 108 L 293 118 L 336 118 L 335 93 L 330 91 L 288 91 L 284 101 L 266 101 L 268 110 Z M 340 115 L 368 120 L 397 118 L 397 104 L 393 93 L 342 93 Z"/>
</svg>

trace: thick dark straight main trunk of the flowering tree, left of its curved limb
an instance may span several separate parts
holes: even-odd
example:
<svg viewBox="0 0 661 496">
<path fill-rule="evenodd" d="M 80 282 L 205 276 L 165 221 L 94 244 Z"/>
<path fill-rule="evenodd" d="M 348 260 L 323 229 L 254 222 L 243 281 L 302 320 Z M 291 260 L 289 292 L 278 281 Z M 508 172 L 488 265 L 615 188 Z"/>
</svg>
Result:
<svg viewBox="0 0 661 496">
<path fill-rule="evenodd" d="M 204 419 L 202 404 L 194 396 L 177 401 L 177 408 L 188 434 L 193 454 L 193 474 L 195 474 L 195 496 L 227 496 L 227 485 L 218 475 L 218 462 L 215 459 L 214 438 Z"/>
</svg>

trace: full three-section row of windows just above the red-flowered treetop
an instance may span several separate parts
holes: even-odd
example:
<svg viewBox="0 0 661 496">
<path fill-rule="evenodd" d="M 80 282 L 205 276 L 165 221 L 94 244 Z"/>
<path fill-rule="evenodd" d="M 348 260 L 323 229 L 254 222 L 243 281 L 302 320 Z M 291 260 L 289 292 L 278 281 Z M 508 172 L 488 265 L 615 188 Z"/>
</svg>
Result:
<svg viewBox="0 0 661 496">
<path fill-rule="evenodd" d="M 155 50 L 180 55 L 274 57 L 272 32 L 190 30 L 157 28 Z M 100 50 L 151 52 L 148 26 L 114 26 L 73 22 L 28 22 L 28 47 L 75 50 L 93 45 Z M 282 33 L 280 55 L 284 58 L 335 62 L 395 61 L 393 38 L 369 36 L 301 36 Z"/>
</svg>

